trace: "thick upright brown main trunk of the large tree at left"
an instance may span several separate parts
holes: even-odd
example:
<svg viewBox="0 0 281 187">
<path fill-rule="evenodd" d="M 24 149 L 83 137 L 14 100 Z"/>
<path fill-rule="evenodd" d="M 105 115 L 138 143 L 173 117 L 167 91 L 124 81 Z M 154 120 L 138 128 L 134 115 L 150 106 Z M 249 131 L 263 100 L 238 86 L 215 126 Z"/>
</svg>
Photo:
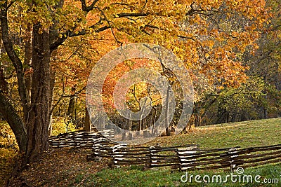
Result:
<svg viewBox="0 0 281 187">
<path fill-rule="evenodd" d="M 32 90 L 29 118 L 27 120 L 27 162 L 48 149 L 50 122 L 50 42 L 48 31 L 41 25 L 33 27 Z"/>
</svg>

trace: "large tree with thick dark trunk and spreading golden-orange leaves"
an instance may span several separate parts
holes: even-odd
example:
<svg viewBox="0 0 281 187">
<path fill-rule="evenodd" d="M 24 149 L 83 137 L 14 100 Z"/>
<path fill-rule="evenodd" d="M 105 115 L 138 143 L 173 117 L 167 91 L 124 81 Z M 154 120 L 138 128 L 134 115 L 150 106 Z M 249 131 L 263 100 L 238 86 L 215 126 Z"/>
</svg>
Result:
<svg viewBox="0 0 281 187">
<path fill-rule="evenodd" d="M 110 34 L 119 46 L 157 43 L 173 50 L 186 67 L 206 75 L 209 81 L 235 85 L 245 78 L 245 67 L 236 52 L 253 44 L 259 37 L 257 28 L 267 18 L 265 1 L 249 0 L 6 0 L 0 5 L 1 39 L 15 69 L 22 113 L 15 111 L 5 92 L 0 95 L 0 112 L 28 161 L 48 148 L 56 75 L 51 63 L 60 57 L 55 52 L 65 44 L 74 39 L 97 39 L 91 45 L 98 46 L 103 34 Z M 229 29 L 234 17 L 252 23 Z"/>
</svg>

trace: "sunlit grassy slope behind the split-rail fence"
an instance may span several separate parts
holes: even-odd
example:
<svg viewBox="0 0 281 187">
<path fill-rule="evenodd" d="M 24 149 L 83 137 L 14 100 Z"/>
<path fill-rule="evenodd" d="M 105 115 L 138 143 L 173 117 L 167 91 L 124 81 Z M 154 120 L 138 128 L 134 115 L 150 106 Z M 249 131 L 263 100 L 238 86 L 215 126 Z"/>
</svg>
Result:
<svg viewBox="0 0 281 187">
<path fill-rule="evenodd" d="M 201 148 L 267 146 L 281 144 L 281 118 L 196 127 L 188 134 L 159 137 L 150 143 L 162 146 L 198 144 Z"/>
</svg>

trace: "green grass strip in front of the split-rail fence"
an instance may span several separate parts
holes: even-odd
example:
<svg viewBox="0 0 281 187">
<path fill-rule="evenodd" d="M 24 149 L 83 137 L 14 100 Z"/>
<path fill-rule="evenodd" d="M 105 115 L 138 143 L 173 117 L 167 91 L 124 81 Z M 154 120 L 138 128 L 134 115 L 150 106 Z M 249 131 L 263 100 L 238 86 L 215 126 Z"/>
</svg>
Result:
<svg viewBox="0 0 281 187">
<path fill-rule="evenodd" d="M 186 172 L 178 172 L 171 169 L 148 169 L 143 171 L 141 167 L 122 167 L 117 169 L 104 169 L 102 172 L 87 176 L 86 180 L 81 174 L 77 175 L 76 182 L 80 186 L 280 186 L 281 183 L 281 165 L 266 165 L 257 168 L 247 168 L 244 169 L 244 174 L 239 174 L 233 172 L 233 180 L 237 179 L 235 183 L 231 181 L 226 175 L 231 175 L 231 172 L 223 172 L 222 170 L 216 171 L 192 171 L 188 172 L 188 181 L 181 181 L 181 177 L 186 176 Z M 189 181 L 190 175 L 193 175 L 191 182 Z M 197 183 L 194 179 L 195 175 L 200 175 L 199 179 L 202 183 Z M 210 177 L 210 183 L 204 182 L 203 177 L 208 175 Z M 212 182 L 211 178 L 214 175 L 220 175 L 222 178 L 222 183 L 220 181 Z M 252 182 L 244 179 L 244 175 L 251 175 Z M 261 178 L 255 181 L 255 176 L 261 176 Z M 185 177 L 183 178 L 183 180 Z M 207 179 L 207 178 L 205 178 Z M 275 183 L 266 184 L 264 180 L 277 180 Z"/>
</svg>

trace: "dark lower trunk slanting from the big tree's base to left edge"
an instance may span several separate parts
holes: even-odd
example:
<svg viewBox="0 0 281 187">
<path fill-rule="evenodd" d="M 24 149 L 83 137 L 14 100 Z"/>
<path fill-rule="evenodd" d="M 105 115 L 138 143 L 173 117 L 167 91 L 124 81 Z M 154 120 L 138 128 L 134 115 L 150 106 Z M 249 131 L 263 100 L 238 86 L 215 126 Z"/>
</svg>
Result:
<svg viewBox="0 0 281 187">
<path fill-rule="evenodd" d="M 5 95 L 1 91 L 0 113 L 13 130 L 13 133 L 15 134 L 15 139 L 18 142 L 18 147 L 20 148 L 20 152 L 25 152 L 27 145 L 27 134 L 25 125 L 22 122 L 20 116 L 18 116 L 17 111 L 15 111 L 11 103 L 8 101 L 8 99 L 6 99 Z"/>
</svg>

